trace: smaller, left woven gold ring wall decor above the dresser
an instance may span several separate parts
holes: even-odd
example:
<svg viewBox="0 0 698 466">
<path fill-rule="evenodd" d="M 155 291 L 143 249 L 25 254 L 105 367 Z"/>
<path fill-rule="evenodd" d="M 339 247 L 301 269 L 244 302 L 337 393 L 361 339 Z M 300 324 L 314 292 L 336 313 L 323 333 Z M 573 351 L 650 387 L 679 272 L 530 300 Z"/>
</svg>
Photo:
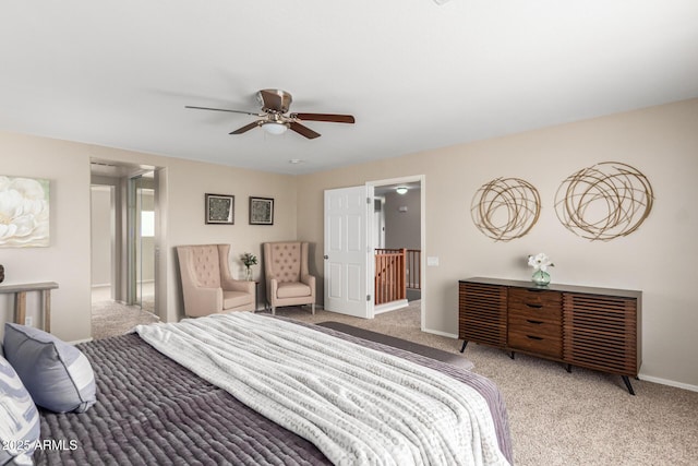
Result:
<svg viewBox="0 0 698 466">
<path fill-rule="evenodd" d="M 519 178 L 497 178 L 483 184 L 470 204 L 472 222 L 496 241 L 510 241 L 529 232 L 540 212 L 538 190 Z"/>
</svg>

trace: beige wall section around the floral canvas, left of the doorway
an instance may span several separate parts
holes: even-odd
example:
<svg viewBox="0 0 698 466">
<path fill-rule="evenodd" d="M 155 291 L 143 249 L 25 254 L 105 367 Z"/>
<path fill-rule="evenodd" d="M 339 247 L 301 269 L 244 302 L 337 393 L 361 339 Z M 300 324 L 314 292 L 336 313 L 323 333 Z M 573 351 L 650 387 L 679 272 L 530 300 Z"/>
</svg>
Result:
<svg viewBox="0 0 698 466">
<path fill-rule="evenodd" d="M 89 147 L 0 132 L 0 174 L 50 180 L 50 247 L 0 248 L 5 283 L 57 282 L 52 333 L 89 337 Z M 27 296 L 27 315 L 37 308 Z M 13 321 L 13 301 L 0 295 L 0 315 Z M 38 322 L 35 320 L 35 322 Z"/>
</svg>

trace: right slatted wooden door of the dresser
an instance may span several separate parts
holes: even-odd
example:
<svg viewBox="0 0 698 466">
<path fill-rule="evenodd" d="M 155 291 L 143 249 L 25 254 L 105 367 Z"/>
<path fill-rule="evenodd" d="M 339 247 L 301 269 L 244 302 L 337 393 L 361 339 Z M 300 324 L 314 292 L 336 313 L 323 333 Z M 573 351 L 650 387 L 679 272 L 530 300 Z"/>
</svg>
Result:
<svg viewBox="0 0 698 466">
<path fill-rule="evenodd" d="M 566 292 L 563 359 L 574 366 L 637 375 L 637 300 Z"/>
</svg>

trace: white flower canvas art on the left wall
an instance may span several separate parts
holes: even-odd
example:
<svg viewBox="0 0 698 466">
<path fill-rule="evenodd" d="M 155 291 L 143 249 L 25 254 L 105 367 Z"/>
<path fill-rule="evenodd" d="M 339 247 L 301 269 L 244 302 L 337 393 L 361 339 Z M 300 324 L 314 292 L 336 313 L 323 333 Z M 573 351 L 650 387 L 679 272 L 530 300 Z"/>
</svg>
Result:
<svg viewBox="0 0 698 466">
<path fill-rule="evenodd" d="M 49 184 L 0 176 L 0 248 L 49 246 Z"/>
</svg>

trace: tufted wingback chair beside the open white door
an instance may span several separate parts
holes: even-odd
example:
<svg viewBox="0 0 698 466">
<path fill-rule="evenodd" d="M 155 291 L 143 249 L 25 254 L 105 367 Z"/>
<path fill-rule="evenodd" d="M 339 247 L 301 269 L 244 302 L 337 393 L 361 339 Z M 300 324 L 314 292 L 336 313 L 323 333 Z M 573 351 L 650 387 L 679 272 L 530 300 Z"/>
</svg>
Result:
<svg viewBox="0 0 698 466">
<path fill-rule="evenodd" d="M 315 313 L 315 277 L 308 273 L 306 242 L 265 242 L 264 275 L 272 314 L 281 306 L 302 304 Z"/>
</svg>

